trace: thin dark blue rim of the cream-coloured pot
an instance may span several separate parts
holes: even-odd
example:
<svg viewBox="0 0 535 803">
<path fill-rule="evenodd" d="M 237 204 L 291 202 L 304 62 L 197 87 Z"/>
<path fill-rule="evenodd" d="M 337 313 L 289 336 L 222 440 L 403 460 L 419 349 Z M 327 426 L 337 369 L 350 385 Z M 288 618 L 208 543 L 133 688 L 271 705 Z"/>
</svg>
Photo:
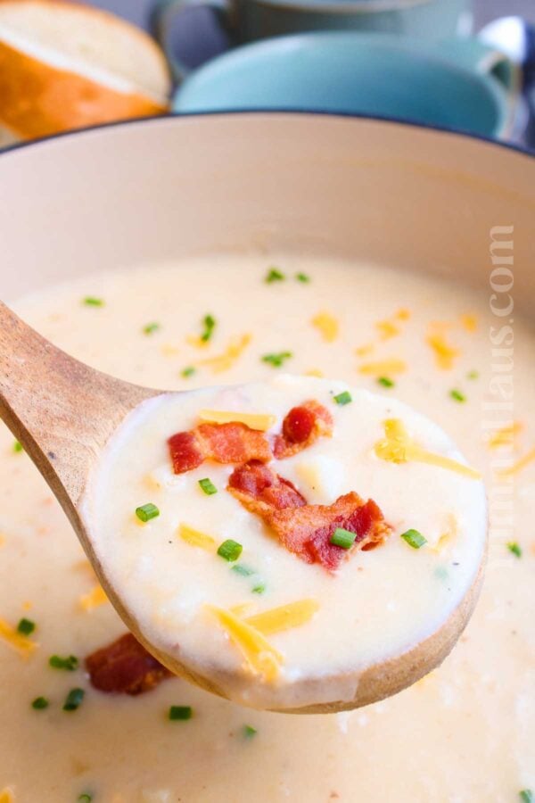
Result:
<svg viewBox="0 0 535 803">
<path fill-rule="evenodd" d="M 379 116 L 371 114 L 358 114 L 355 112 L 327 112 L 321 109 L 226 109 L 219 112 L 184 112 L 181 114 L 169 112 L 166 114 L 155 114 L 149 117 L 135 117 L 131 120 L 115 120 L 107 123 L 99 123 L 95 126 L 87 126 L 86 128 L 75 128 L 70 131 L 61 131 L 58 134 L 49 134 L 47 137 L 38 137 L 31 139 L 28 142 L 18 142 L 13 145 L 7 145 L 0 149 L 0 159 L 9 156 L 10 153 L 23 151 L 26 148 L 38 147 L 42 143 L 50 142 L 55 139 L 67 139 L 69 137 L 83 137 L 86 133 L 93 131 L 105 130 L 107 128 L 121 128 L 132 125 L 152 125 L 159 120 L 173 120 L 177 125 L 180 125 L 183 120 L 190 120 L 192 118 L 210 118 L 210 117 L 240 117 L 243 115 L 251 116 L 282 116 L 292 117 L 299 115 L 302 117 L 332 117 L 338 120 L 374 120 L 385 124 L 402 126 L 404 128 L 420 128 L 424 131 L 436 131 L 440 134 L 445 134 L 448 137 L 460 137 L 471 141 L 481 142 L 486 145 L 496 147 L 498 150 L 509 151 L 527 156 L 531 160 L 535 160 L 535 149 L 517 145 L 512 142 L 504 142 L 503 140 L 494 139 L 493 137 L 484 137 L 481 134 L 473 134 L 467 131 L 458 131 L 456 128 L 448 128 L 447 126 L 436 126 L 432 123 L 422 123 L 413 120 L 405 120 L 397 117 Z"/>
</svg>

